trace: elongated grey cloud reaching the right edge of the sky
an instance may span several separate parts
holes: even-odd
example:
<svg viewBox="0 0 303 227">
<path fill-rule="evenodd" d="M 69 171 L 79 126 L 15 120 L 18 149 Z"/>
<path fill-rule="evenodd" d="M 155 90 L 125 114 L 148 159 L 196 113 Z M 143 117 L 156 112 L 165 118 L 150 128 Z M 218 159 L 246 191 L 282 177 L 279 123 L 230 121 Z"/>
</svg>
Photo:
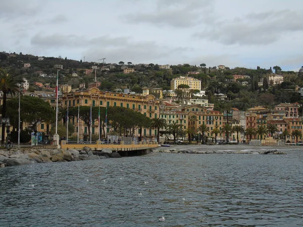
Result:
<svg viewBox="0 0 303 227">
<path fill-rule="evenodd" d="M 270 44 L 279 40 L 282 34 L 303 31 L 302 21 L 300 12 L 289 10 L 255 13 L 232 21 L 221 21 L 193 36 L 227 45 Z"/>
</svg>

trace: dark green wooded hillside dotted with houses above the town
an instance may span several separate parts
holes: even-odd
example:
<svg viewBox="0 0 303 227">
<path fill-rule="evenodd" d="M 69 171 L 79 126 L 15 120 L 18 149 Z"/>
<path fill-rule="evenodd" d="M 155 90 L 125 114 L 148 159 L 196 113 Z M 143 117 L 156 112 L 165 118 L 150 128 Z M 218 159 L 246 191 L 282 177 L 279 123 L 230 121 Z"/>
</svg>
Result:
<svg viewBox="0 0 303 227">
<path fill-rule="evenodd" d="M 29 63 L 29 68 L 24 64 Z M 201 89 L 206 91 L 206 99 L 215 103 L 216 110 L 224 109 L 226 103 L 241 110 L 256 105 L 273 106 L 280 102 L 301 102 L 298 88 L 303 87 L 302 69 L 299 73 L 293 71 L 282 71 L 279 66 L 269 69 L 246 69 L 234 68 L 218 69 L 216 66 L 189 66 L 188 64 L 170 66 L 169 70 L 160 69 L 159 65 L 131 63 L 105 64 L 69 60 L 67 58 L 47 58 L 42 61 L 38 56 L 22 53 L 0 53 L 0 67 L 8 68 L 12 73 L 29 80 L 30 89 L 43 89 L 34 87 L 34 82 L 43 84 L 49 83 L 51 87 L 56 85 L 57 69 L 55 65 L 62 65 L 63 70 L 59 71 L 59 83 L 70 84 L 72 88 L 78 88 L 80 83 L 90 83 L 94 79 L 94 72 L 84 74 L 86 69 L 96 66 L 97 80 L 102 82 L 100 89 L 115 91 L 129 88 L 140 93 L 143 87 L 170 89 L 170 81 L 180 76 L 191 76 L 201 80 Z M 123 67 L 133 68 L 135 72 L 124 74 Z M 47 77 L 41 77 L 42 71 Z M 194 72 L 194 74 L 188 74 Z M 73 77 L 77 73 L 78 77 Z M 234 80 L 233 75 L 240 75 L 243 78 Z M 282 76 L 283 82 L 276 84 L 274 78 Z M 219 100 L 215 94 L 227 95 L 225 100 Z"/>
</svg>

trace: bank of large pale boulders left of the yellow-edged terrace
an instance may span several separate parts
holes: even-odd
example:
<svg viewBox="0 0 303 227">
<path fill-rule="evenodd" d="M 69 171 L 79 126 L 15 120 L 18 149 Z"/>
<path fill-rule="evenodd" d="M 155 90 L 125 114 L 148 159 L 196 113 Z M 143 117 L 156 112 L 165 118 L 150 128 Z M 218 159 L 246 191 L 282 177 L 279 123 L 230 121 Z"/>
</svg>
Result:
<svg viewBox="0 0 303 227">
<path fill-rule="evenodd" d="M 118 152 L 105 148 L 102 151 L 92 151 L 89 147 L 84 147 L 81 151 L 69 149 L 39 149 L 39 148 L 15 148 L 10 150 L 0 150 L 0 167 L 25 165 L 43 162 L 65 162 L 84 161 L 102 158 L 119 158 Z"/>
</svg>

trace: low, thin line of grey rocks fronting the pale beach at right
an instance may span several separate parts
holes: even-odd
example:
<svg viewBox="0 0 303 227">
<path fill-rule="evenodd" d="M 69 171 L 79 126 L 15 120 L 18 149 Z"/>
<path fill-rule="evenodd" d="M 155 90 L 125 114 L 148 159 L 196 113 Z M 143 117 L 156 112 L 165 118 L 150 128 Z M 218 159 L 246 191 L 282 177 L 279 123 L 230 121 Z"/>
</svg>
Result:
<svg viewBox="0 0 303 227">
<path fill-rule="evenodd" d="M 274 150 L 206 150 L 201 148 L 189 149 L 153 149 L 154 153 L 183 153 L 183 154 L 286 154 L 282 151 Z"/>
</svg>

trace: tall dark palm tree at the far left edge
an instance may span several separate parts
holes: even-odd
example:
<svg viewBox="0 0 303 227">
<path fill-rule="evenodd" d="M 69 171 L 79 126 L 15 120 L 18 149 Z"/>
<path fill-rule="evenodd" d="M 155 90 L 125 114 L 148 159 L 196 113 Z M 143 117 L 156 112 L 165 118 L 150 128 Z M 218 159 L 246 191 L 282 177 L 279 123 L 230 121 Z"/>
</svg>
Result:
<svg viewBox="0 0 303 227">
<path fill-rule="evenodd" d="M 7 70 L 0 68 L 0 90 L 3 92 L 3 104 L 2 104 L 2 119 L 6 118 L 6 102 L 7 95 L 12 96 L 19 93 L 19 86 L 24 82 L 23 80 L 17 79 L 16 75 L 10 74 Z M 5 142 L 5 123 L 2 123 L 2 146 Z"/>
</svg>

